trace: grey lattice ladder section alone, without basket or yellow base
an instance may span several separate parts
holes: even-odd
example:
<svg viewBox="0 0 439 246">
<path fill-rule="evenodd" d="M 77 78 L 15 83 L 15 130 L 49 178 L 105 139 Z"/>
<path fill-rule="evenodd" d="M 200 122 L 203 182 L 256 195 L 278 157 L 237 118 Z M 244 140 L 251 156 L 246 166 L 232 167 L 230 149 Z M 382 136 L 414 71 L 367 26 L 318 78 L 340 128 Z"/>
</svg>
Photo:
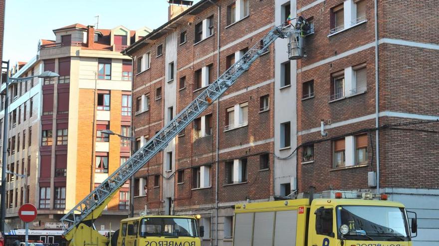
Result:
<svg viewBox="0 0 439 246">
<path fill-rule="evenodd" d="M 148 143 L 134 153 L 128 161 L 122 164 L 115 172 L 105 179 L 95 190 L 88 194 L 72 210 L 61 218 L 64 228 L 63 235 L 68 234 L 74 227 L 85 220 L 98 206 L 108 202 L 112 196 L 132 175 L 150 161 L 157 153 L 163 151 L 169 142 L 179 132 L 195 120 L 209 105 L 217 100 L 239 76 L 248 70 L 250 65 L 263 53 L 277 38 L 286 38 L 297 30 L 292 26 L 274 27 L 257 44 L 251 47 L 235 64 L 225 71 L 219 78 L 210 84 L 197 98 L 183 109 L 173 120 L 160 130 Z"/>
</svg>

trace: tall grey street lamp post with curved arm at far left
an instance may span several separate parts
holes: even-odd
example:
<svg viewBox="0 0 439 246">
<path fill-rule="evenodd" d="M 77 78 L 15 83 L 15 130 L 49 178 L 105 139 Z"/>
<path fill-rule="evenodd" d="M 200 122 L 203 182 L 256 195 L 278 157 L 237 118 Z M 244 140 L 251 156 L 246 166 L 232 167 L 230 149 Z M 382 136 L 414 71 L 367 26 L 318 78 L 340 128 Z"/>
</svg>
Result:
<svg viewBox="0 0 439 246">
<path fill-rule="evenodd" d="M 5 204 L 5 196 L 6 196 L 6 160 L 7 160 L 7 128 L 8 128 L 8 85 L 10 83 L 18 83 L 31 80 L 33 78 L 49 78 L 49 77 L 59 77 L 58 74 L 51 71 L 44 71 L 40 75 L 24 77 L 24 78 L 9 78 L 9 61 L 1 62 L 2 65 L 6 64 L 6 89 L 4 92 L 4 113 L 3 113 L 3 146 L 2 146 L 2 158 L 1 158 L 1 218 L 0 218 L 0 232 L 4 233 L 4 220 L 6 218 L 6 204 Z M 24 189 L 23 189 L 24 190 Z"/>
</svg>

